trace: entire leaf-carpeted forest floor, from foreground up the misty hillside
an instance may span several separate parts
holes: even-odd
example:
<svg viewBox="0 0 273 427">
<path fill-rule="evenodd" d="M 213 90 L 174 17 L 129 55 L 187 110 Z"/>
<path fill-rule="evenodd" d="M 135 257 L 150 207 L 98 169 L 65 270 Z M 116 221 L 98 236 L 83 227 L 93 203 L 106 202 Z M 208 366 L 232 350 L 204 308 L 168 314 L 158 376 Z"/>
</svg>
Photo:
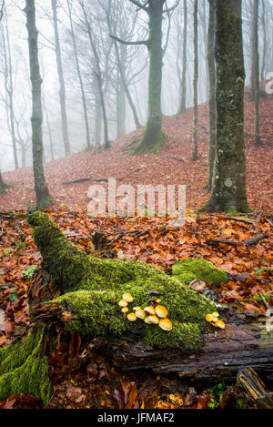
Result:
<svg viewBox="0 0 273 427">
<path fill-rule="evenodd" d="M 248 94 L 247 94 L 248 95 Z M 46 179 L 55 200 L 47 212 L 67 238 L 94 253 L 96 230 L 106 234 L 118 258 L 146 261 L 169 272 L 174 262 L 188 257 L 212 261 L 229 274 L 227 284 L 217 289 L 217 299 L 236 310 L 265 314 L 260 293 L 273 306 L 273 132 L 270 109 L 273 97 L 261 100 L 262 147 L 255 147 L 254 107 L 246 95 L 246 142 L 248 163 L 248 202 L 253 211 L 248 216 L 235 214 L 197 214 L 194 211 L 208 198 L 207 183 L 207 105 L 199 108 L 199 159 L 191 160 L 192 110 L 181 117 L 166 117 L 167 146 L 151 157 L 128 157 L 121 150 L 140 130 L 117 139 L 107 150 L 92 149 L 45 164 Z M 173 158 L 184 158 L 178 161 Z M 166 218 L 92 218 L 86 215 L 87 188 L 96 181 L 74 185 L 62 183 L 75 178 L 124 178 L 122 184 L 187 185 L 187 217 L 183 227 L 174 227 Z M 117 173 L 118 171 L 118 173 Z M 15 337 L 25 336 L 30 328 L 26 292 L 41 255 L 31 237 L 25 210 L 34 203 L 30 168 L 4 174 L 12 190 L 0 198 L 0 347 Z M 106 186 L 106 183 L 102 183 Z M 7 210 L 16 210 L 8 213 Z M 2 212 L 1 212 L 2 211 Z M 6 213 L 5 213 L 5 212 Z M 21 216 L 18 215 L 21 212 Z M 246 240 L 259 234 L 254 244 Z M 209 239 L 240 242 L 212 244 Z M 60 343 L 51 363 L 54 396 L 49 408 L 207 408 L 228 406 L 232 384 L 209 386 L 195 383 L 194 389 L 177 378 L 151 372 L 118 371 L 111 361 L 95 353 L 88 366 L 78 369 L 85 344 L 72 336 Z M 69 354 L 68 358 L 64 355 Z M 73 368 L 72 368 L 73 367 Z M 227 389 L 227 390 L 226 390 Z M 214 401 L 212 401 L 212 399 Z M 0 408 L 35 408 L 40 402 L 15 395 Z"/>
</svg>

